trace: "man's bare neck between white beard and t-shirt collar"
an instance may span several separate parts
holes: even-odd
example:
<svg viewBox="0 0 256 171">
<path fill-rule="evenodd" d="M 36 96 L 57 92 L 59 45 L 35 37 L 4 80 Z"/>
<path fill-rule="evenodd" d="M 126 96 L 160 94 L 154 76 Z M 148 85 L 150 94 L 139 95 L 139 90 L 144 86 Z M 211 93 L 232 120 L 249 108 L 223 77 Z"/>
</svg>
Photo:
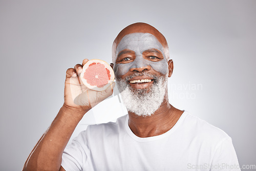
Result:
<svg viewBox="0 0 256 171">
<path fill-rule="evenodd" d="M 182 113 L 183 111 L 170 105 L 168 97 L 165 96 L 159 109 L 151 116 L 138 116 L 129 111 L 129 127 L 138 137 L 161 135 L 172 129 Z"/>
</svg>

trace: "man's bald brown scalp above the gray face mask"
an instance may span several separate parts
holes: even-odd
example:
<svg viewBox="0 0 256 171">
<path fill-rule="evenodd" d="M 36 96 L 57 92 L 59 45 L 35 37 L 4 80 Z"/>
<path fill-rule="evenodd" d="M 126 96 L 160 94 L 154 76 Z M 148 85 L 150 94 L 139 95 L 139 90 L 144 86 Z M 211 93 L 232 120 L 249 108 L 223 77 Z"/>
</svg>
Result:
<svg viewBox="0 0 256 171">
<path fill-rule="evenodd" d="M 164 56 L 166 57 L 166 60 L 169 59 L 169 49 L 168 49 L 168 44 L 167 44 L 165 37 L 156 28 L 154 28 L 151 25 L 148 25 L 146 23 L 135 23 L 135 24 L 125 27 L 115 38 L 115 40 L 113 42 L 113 47 L 112 47 L 113 63 L 115 63 L 115 60 L 117 57 L 116 48 L 117 48 L 119 42 L 122 40 L 122 38 L 124 36 L 126 36 L 128 34 L 132 34 L 132 33 L 150 33 L 150 34 L 152 34 L 154 37 L 156 37 L 156 39 L 162 45 L 163 53 L 164 53 Z"/>
</svg>

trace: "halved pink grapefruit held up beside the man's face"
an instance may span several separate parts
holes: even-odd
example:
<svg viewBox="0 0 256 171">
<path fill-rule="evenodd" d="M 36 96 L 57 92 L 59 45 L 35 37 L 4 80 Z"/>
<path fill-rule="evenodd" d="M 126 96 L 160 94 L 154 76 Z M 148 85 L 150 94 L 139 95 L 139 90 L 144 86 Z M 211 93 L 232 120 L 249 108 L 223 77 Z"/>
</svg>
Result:
<svg viewBox="0 0 256 171">
<path fill-rule="evenodd" d="M 87 88 L 104 91 L 114 81 L 115 75 L 108 63 L 99 59 L 91 59 L 82 67 L 80 79 Z"/>
</svg>

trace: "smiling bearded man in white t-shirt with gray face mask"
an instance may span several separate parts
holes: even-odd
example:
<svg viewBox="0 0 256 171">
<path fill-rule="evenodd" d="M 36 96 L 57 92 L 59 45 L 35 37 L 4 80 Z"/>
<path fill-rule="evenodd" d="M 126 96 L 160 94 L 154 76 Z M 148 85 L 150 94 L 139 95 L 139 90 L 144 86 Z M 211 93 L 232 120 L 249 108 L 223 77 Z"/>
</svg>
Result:
<svg viewBox="0 0 256 171">
<path fill-rule="evenodd" d="M 103 92 L 83 87 L 74 95 L 84 59 L 67 70 L 65 102 L 24 170 L 240 170 L 227 134 L 169 104 L 167 78 L 174 66 L 157 29 L 127 26 L 114 40 L 112 56 L 128 114 L 88 126 L 66 147 L 83 115 L 113 92 L 114 83 Z M 77 97 L 83 105 L 74 103 Z"/>
</svg>

